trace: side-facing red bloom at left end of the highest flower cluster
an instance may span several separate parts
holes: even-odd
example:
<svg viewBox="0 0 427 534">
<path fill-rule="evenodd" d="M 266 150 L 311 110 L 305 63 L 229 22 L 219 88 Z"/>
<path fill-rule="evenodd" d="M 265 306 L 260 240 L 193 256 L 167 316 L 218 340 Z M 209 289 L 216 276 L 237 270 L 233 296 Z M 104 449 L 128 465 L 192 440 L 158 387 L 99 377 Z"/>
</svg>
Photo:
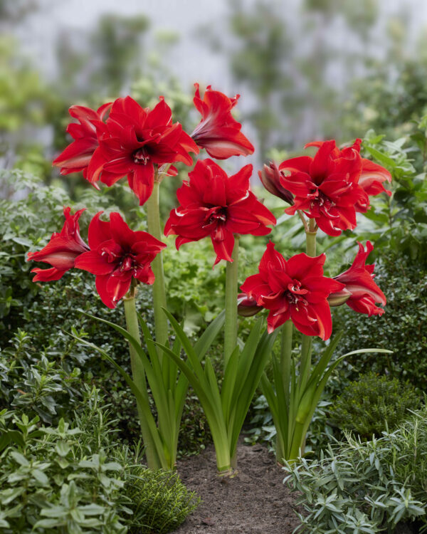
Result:
<svg viewBox="0 0 427 534">
<path fill-rule="evenodd" d="M 53 160 L 53 165 L 60 167 L 60 174 L 83 171 L 86 178 L 88 164 L 98 146 L 98 132 L 105 132 L 104 121 L 111 106 L 112 103 L 104 104 L 97 111 L 83 105 L 71 106 L 68 112 L 78 122 L 71 122 L 67 127 L 74 141 Z"/>
</svg>

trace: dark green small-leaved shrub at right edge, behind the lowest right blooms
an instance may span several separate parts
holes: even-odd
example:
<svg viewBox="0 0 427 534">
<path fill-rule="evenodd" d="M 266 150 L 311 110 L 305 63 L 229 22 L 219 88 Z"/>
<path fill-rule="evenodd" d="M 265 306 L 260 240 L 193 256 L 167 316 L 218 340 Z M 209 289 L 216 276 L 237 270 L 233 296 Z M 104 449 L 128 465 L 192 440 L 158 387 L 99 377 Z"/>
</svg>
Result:
<svg viewBox="0 0 427 534">
<path fill-rule="evenodd" d="M 339 351 L 379 347 L 391 355 L 375 353 L 352 356 L 338 370 L 355 380 L 360 373 L 374 371 L 427 389 L 427 271 L 407 258 L 388 253 L 376 265 L 376 283 L 387 298 L 384 315 L 368 317 L 347 306 L 336 308 L 334 330 L 344 330 Z M 344 362 L 345 364 L 346 362 Z M 342 391 L 342 382 L 338 384 Z"/>
</svg>

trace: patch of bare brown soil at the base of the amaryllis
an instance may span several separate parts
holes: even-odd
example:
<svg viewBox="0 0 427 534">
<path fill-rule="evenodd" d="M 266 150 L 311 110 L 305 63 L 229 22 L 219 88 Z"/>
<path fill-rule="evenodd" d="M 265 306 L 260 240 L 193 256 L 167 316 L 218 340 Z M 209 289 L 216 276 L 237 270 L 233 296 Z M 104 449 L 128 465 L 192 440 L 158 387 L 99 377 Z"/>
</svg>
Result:
<svg viewBox="0 0 427 534">
<path fill-rule="evenodd" d="M 261 445 L 238 445 L 238 474 L 216 476 L 215 451 L 181 459 L 178 472 L 202 503 L 176 534 L 291 534 L 300 523 L 293 509 L 297 496 L 283 485 L 285 471 Z"/>
</svg>

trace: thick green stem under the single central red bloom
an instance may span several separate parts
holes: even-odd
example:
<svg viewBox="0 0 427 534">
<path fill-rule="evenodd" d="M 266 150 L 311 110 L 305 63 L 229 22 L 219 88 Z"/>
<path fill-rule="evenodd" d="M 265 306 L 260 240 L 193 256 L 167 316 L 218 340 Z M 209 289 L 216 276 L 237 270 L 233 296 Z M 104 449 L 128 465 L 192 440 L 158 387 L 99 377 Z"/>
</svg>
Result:
<svg viewBox="0 0 427 534">
<path fill-rule="evenodd" d="M 237 284 L 238 284 L 238 237 L 235 237 L 233 262 L 226 267 L 226 323 L 224 332 L 224 371 L 237 345 Z"/>
</svg>

